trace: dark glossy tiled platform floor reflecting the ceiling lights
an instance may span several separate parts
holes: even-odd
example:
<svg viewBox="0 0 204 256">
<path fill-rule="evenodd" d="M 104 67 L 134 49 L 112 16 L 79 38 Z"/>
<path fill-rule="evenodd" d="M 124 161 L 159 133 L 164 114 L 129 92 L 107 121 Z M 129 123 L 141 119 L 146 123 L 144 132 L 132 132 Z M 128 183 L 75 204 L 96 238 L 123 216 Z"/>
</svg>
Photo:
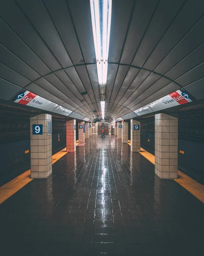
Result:
<svg viewBox="0 0 204 256">
<path fill-rule="evenodd" d="M 193 160 L 192 160 L 193 161 Z M 109 136 L 0 205 L 0 255 L 203 255 L 204 205 Z"/>
</svg>

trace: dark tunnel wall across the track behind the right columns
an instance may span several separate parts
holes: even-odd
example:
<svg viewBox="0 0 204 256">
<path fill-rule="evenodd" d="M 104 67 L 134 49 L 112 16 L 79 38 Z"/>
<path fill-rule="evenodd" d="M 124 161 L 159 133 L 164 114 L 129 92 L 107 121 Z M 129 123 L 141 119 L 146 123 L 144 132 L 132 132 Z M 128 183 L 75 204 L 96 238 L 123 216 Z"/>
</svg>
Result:
<svg viewBox="0 0 204 256">
<path fill-rule="evenodd" d="M 154 154 L 154 117 L 141 119 L 141 147 Z M 204 108 L 178 113 L 178 169 L 204 183 Z"/>
</svg>

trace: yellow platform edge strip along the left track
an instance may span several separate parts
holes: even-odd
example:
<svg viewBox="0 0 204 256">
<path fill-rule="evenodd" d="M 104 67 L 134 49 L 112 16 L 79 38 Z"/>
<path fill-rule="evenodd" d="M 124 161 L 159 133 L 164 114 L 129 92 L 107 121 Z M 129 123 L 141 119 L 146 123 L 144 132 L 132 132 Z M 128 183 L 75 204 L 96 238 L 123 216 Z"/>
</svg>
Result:
<svg viewBox="0 0 204 256">
<path fill-rule="evenodd" d="M 61 151 L 57 152 L 52 156 L 52 164 L 59 160 L 66 154 L 66 148 L 63 148 Z M 21 175 L 17 176 L 13 180 L 4 184 L 0 187 L 0 204 L 6 201 L 11 195 L 14 195 L 18 190 L 22 189 L 26 184 L 31 180 L 31 170 L 28 170 Z"/>
</svg>

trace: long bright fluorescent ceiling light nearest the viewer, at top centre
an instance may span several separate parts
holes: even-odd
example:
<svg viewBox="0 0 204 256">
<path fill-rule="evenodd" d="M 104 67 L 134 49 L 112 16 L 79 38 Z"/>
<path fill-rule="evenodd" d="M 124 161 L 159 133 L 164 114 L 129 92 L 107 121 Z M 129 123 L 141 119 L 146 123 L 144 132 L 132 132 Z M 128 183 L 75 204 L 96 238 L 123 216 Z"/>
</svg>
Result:
<svg viewBox="0 0 204 256">
<path fill-rule="evenodd" d="M 106 84 L 112 0 L 90 0 L 98 83 Z"/>
</svg>

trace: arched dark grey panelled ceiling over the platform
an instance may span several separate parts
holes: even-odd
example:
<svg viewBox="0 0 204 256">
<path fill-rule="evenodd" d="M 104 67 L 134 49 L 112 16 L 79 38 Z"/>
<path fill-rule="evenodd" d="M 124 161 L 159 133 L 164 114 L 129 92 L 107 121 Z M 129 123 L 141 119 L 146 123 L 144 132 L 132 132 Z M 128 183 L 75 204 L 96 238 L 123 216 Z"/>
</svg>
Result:
<svg viewBox="0 0 204 256">
<path fill-rule="evenodd" d="M 203 0 L 112 0 L 106 119 L 201 86 L 203 15 Z M 89 0 L 1 0 L 0 32 L 0 86 L 23 87 L 98 119 Z"/>
</svg>

